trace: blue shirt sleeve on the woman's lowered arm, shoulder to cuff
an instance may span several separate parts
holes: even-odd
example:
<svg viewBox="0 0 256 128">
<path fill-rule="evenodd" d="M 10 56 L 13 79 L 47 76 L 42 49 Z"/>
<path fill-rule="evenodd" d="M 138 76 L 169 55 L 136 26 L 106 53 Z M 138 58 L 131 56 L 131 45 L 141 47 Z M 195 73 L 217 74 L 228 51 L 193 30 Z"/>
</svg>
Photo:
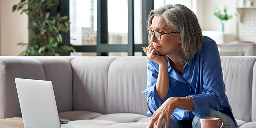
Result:
<svg viewBox="0 0 256 128">
<path fill-rule="evenodd" d="M 187 96 L 194 102 L 192 113 L 200 118 L 210 117 L 210 109 L 219 111 L 225 100 L 225 84 L 217 44 L 211 40 L 205 47 L 202 65 L 203 83 L 200 87 L 203 91 L 201 94 Z"/>
</svg>

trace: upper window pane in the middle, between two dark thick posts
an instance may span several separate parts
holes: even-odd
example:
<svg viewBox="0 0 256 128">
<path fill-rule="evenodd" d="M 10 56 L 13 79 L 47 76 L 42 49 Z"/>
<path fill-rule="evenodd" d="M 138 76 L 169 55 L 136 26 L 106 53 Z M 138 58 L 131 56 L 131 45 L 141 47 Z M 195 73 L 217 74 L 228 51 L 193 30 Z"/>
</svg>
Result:
<svg viewBox="0 0 256 128">
<path fill-rule="evenodd" d="M 128 44 L 128 1 L 108 0 L 108 44 Z"/>
</svg>

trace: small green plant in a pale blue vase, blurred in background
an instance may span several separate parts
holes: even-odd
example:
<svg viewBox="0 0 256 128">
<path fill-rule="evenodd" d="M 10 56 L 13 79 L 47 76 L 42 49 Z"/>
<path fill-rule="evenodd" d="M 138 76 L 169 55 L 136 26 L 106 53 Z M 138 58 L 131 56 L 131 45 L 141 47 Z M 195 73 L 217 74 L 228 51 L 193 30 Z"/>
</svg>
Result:
<svg viewBox="0 0 256 128">
<path fill-rule="evenodd" d="M 220 31 L 224 32 L 224 21 L 227 21 L 228 19 L 232 18 L 232 15 L 228 15 L 227 14 L 227 6 L 224 7 L 224 14 L 220 13 L 220 10 L 218 9 L 218 7 L 216 6 L 215 9 L 213 9 L 212 11 L 213 15 L 215 15 L 216 17 L 218 17 L 221 21 L 220 24 Z"/>
</svg>

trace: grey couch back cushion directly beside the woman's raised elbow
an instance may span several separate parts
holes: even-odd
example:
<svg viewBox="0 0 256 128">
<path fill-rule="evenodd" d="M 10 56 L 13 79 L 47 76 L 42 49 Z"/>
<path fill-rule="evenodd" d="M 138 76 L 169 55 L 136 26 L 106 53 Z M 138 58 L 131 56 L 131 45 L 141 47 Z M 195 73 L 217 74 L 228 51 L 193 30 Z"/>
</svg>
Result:
<svg viewBox="0 0 256 128">
<path fill-rule="evenodd" d="M 147 115 L 147 57 L 120 57 L 108 70 L 108 114 L 138 113 Z"/>
</svg>

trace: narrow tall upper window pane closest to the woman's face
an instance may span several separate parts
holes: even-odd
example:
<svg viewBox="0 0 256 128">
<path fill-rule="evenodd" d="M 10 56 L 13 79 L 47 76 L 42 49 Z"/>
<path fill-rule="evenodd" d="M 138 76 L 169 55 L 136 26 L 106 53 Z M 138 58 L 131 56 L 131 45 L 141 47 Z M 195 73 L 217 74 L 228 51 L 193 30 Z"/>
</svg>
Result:
<svg viewBox="0 0 256 128">
<path fill-rule="evenodd" d="M 134 44 L 142 44 L 142 0 L 133 1 L 134 6 Z"/>
</svg>

